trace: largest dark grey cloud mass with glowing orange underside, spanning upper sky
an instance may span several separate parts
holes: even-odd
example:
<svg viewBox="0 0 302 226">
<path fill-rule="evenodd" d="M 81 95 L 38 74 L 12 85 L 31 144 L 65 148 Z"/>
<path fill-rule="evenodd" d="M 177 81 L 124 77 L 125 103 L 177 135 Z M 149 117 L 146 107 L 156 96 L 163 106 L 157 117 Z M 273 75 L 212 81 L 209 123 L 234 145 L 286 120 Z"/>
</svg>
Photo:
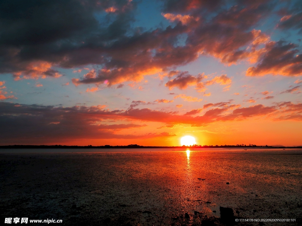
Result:
<svg viewBox="0 0 302 226">
<path fill-rule="evenodd" d="M 37 79 L 61 76 L 58 68 L 98 65 L 99 70 L 72 82 L 107 81 L 111 86 L 141 81 L 146 75 L 194 61 L 201 54 L 236 64 L 240 60 L 257 62 L 266 51 L 259 45 L 269 37 L 252 28 L 273 10 L 267 1 L 239 1 L 226 7 L 220 0 L 166 0 L 162 5 L 166 18 L 181 23 L 144 31 L 131 26 L 136 1 L 2 2 L 0 73 L 11 73 L 16 80 Z M 183 34 L 187 36 L 185 45 L 179 46 L 178 36 Z M 179 83 L 173 87 L 185 86 Z"/>
</svg>

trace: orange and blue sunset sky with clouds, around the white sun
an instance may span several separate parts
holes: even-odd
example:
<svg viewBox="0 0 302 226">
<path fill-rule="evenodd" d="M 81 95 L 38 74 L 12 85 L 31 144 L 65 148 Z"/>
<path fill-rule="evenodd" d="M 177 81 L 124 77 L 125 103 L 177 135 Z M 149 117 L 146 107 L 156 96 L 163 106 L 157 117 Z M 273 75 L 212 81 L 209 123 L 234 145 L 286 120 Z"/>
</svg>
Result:
<svg viewBox="0 0 302 226">
<path fill-rule="evenodd" d="M 299 0 L 0 2 L 0 145 L 302 145 Z"/>
</svg>

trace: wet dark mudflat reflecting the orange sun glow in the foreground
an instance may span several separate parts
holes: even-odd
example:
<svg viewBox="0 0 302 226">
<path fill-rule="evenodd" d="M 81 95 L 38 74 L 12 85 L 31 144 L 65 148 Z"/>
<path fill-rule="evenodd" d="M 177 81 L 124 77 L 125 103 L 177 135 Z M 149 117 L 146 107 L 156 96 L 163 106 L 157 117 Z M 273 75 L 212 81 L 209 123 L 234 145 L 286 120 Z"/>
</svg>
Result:
<svg viewBox="0 0 302 226">
<path fill-rule="evenodd" d="M 189 156 L 154 149 L 4 151 L 9 152 L 0 151 L 1 221 L 28 217 L 62 219 L 61 225 L 176 226 L 212 219 L 223 225 L 222 206 L 243 219 L 296 219 L 265 225 L 302 224 L 301 149 L 191 149 Z"/>
</svg>

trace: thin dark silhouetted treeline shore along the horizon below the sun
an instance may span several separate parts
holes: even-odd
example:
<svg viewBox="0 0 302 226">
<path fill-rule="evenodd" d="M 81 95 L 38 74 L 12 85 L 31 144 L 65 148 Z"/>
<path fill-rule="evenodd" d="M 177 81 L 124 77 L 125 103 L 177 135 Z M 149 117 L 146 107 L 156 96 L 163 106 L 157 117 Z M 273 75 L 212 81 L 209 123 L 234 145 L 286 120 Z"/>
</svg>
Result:
<svg viewBox="0 0 302 226">
<path fill-rule="evenodd" d="M 125 145 L 125 146 L 111 146 L 111 145 L 104 145 L 104 146 L 67 146 L 67 145 L 5 145 L 5 146 L 0 146 L 0 149 L 125 149 L 125 148 L 249 148 L 249 149 L 254 149 L 254 148 L 262 148 L 262 149 L 295 149 L 295 148 L 302 148 L 302 146 L 296 146 L 296 147 L 274 147 L 274 146 L 237 146 L 237 145 L 221 145 L 221 146 L 140 146 L 137 144 L 130 144 L 130 145 Z"/>
</svg>

